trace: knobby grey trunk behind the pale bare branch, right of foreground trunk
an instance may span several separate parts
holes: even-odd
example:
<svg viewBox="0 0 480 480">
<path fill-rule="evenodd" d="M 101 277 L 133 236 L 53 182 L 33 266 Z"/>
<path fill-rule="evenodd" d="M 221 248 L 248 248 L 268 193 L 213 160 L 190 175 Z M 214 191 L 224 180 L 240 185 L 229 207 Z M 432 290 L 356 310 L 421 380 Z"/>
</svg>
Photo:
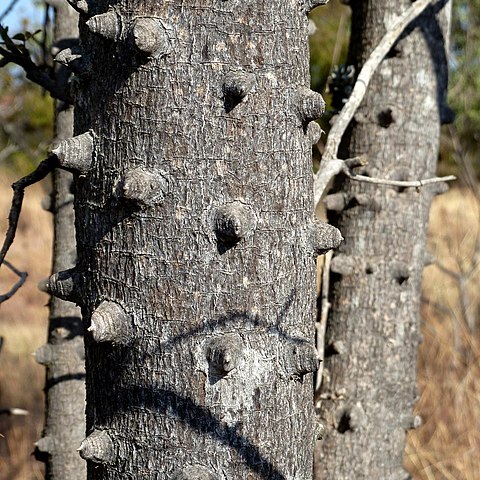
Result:
<svg viewBox="0 0 480 480">
<path fill-rule="evenodd" d="M 448 112 L 446 3 L 438 1 L 407 29 L 355 116 L 346 156 L 366 153 L 370 176 L 406 180 L 435 174 L 440 117 Z M 409 4 L 351 2 L 350 56 L 357 71 L 389 20 Z M 326 430 L 316 477 L 404 480 L 405 431 L 419 420 L 412 409 L 420 284 L 435 192 L 349 181 L 337 187 L 347 207 L 332 220 L 345 242 L 332 262 L 321 405 Z"/>
</svg>

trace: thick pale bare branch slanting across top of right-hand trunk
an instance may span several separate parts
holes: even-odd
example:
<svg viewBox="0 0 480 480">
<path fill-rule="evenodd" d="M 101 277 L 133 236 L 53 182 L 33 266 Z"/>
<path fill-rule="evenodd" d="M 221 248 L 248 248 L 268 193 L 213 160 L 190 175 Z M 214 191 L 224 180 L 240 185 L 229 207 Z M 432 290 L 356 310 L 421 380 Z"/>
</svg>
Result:
<svg viewBox="0 0 480 480">
<path fill-rule="evenodd" d="M 314 198 L 315 205 L 320 201 L 323 192 L 327 188 L 330 180 L 340 173 L 338 168 L 332 168 L 330 162 L 338 162 L 338 149 L 343 135 L 350 124 L 355 112 L 367 92 L 367 87 L 373 77 L 376 69 L 384 59 L 385 55 L 391 50 L 395 42 L 400 38 L 405 28 L 417 18 L 431 3 L 432 0 L 417 0 L 409 7 L 392 25 L 384 35 L 378 46 L 372 52 L 368 60 L 362 67 L 358 75 L 352 94 L 347 103 L 342 108 L 338 117 L 328 134 L 327 143 L 320 162 L 320 169 L 315 176 Z"/>
</svg>

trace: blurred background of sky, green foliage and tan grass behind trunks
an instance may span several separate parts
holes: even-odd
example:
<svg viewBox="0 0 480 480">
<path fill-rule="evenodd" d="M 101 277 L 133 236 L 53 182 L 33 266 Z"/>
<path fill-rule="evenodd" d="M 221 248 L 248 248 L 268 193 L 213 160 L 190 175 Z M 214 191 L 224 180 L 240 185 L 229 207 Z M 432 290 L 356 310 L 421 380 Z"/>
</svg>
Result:
<svg viewBox="0 0 480 480">
<path fill-rule="evenodd" d="M 331 0 L 311 18 L 312 86 L 327 101 L 320 124 L 328 132 L 328 120 L 338 108 L 329 78 L 345 63 L 350 10 Z M 51 21 L 51 11 L 47 14 L 42 1 L 1 2 L 0 23 L 9 27 L 9 35 L 42 29 L 28 41 L 39 61 L 51 61 Z M 416 410 L 423 424 L 410 431 L 405 451 L 405 466 L 415 480 L 480 478 L 480 0 L 454 0 L 451 34 L 449 106 L 456 120 L 442 127 L 438 168 L 440 175 L 453 173 L 458 181 L 435 198 L 430 215 L 428 248 L 436 260 L 424 274 L 424 341 L 417 361 Z M 2 238 L 10 184 L 43 160 L 52 121 L 50 96 L 26 80 L 18 67 L 0 68 Z M 314 162 L 322 147 L 322 141 L 314 147 Z M 27 191 L 8 255 L 28 278 L 0 305 L 0 479 L 43 478 L 32 451 L 42 430 L 44 369 L 31 354 L 45 342 L 47 331 L 48 297 L 36 285 L 50 274 L 52 218 L 40 206 L 49 190 L 45 181 Z M 15 281 L 2 268 L 0 293 Z M 4 410 L 10 408 L 25 409 L 28 415 L 8 415 Z"/>
</svg>

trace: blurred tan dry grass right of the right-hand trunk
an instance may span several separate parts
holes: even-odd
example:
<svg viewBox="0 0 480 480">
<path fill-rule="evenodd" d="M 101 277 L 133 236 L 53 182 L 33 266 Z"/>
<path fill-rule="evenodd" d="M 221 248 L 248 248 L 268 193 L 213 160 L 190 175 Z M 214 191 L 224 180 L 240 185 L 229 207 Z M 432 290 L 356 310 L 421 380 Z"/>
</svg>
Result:
<svg viewBox="0 0 480 480">
<path fill-rule="evenodd" d="M 421 392 L 406 465 L 418 480 L 480 478 L 479 204 L 452 190 L 434 202 L 430 251 L 443 268 L 425 270 Z"/>
</svg>

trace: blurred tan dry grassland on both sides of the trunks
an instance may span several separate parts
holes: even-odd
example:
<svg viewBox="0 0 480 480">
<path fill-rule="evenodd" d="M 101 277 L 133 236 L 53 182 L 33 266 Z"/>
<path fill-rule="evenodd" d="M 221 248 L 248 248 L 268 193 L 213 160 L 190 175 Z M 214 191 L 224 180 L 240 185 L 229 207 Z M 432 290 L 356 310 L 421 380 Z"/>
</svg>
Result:
<svg viewBox="0 0 480 480">
<path fill-rule="evenodd" d="M 11 200 L 0 179 L 0 234 Z M 26 284 L 0 306 L 0 409 L 20 407 L 28 416 L 0 416 L 0 479 L 42 479 L 32 456 L 42 429 L 43 367 L 32 357 L 46 338 L 48 297 L 37 283 L 49 275 L 51 218 L 40 207 L 46 186 L 27 193 L 9 260 L 28 271 Z M 422 425 L 409 431 L 405 465 L 416 480 L 480 478 L 479 204 L 467 190 L 452 189 L 434 201 L 429 250 L 437 264 L 425 269 L 418 354 Z M 0 291 L 15 278 L 2 268 Z M 383 479 L 372 479 L 383 480 Z M 387 479 L 385 479 L 387 480 Z"/>
</svg>

